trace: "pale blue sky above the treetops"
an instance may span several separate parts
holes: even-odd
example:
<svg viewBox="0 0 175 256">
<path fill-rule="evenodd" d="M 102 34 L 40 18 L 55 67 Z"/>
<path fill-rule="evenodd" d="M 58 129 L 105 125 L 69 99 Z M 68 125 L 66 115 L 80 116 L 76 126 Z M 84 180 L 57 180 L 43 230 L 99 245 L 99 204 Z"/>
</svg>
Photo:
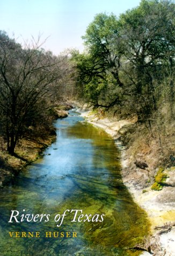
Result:
<svg viewBox="0 0 175 256">
<path fill-rule="evenodd" d="M 42 47 L 59 54 L 65 49 L 83 51 L 82 36 L 100 12 L 120 13 L 138 6 L 140 0 L 0 0 L 0 30 L 19 43 L 32 36 L 46 42 Z"/>
</svg>

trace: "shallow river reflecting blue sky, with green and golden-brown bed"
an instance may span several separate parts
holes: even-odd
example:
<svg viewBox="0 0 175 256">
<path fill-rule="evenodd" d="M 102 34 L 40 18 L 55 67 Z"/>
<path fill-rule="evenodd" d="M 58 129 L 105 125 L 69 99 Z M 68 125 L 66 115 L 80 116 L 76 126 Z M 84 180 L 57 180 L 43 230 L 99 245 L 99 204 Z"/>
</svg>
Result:
<svg viewBox="0 0 175 256">
<path fill-rule="evenodd" d="M 147 216 L 122 183 L 114 141 L 74 111 L 55 127 L 45 156 L 1 190 L 0 255 L 140 255 L 130 248 L 148 233 Z M 19 215 L 8 223 L 12 210 Z"/>
</svg>

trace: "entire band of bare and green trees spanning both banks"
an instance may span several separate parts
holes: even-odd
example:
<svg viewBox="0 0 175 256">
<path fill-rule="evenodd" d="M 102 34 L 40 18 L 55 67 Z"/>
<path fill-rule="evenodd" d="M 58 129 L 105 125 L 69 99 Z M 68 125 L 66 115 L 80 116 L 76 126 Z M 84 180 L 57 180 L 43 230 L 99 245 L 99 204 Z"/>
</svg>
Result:
<svg viewBox="0 0 175 256">
<path fill-rule="evenodd" d="M 142 0 L 119 18 L 99 13 L 83 36 L 85 52 L 59 57 L 42 50 L 39 40 L 23 49 L 1 31 L 0 124 L 9 152 L 37 127 L 49 129 L 48 109 L 74 96 L 114 114 L 137 115 L 163 152 L 165 124 L 175 116 L 174 5 Z"/>
</svg>

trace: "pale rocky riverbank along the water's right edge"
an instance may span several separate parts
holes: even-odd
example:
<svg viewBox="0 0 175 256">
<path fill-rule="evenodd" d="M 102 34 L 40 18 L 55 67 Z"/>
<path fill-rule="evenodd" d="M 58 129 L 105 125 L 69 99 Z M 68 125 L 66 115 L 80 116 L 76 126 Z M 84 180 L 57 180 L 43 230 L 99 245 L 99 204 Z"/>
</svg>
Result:
<svg viewBox="0 0 175 256">
<path fill-rule="evenodd" d="M 116 117 L 93 112 L 83 112 L 82 115 L 93 125 L 103 128 L 116 141 L 121 149 L 121 164 L 123 183 L 127 186 L 135 202 L 140 205 L 148 215 L 151 223 L 150 236 L 144 247 L 157 256 L 173 256 L 175 252 L 175 167 L 163 167 L 167 174 L 166 183 L 161 190 L 152 190 L 158 168 L 162 167 L 162 158 L 158 155 L 155 141 L 152 145 L 140 142 L 122 146 L 122 137 L 134 126 L 137 117 L 117 120 Z M 138 136 L 138 135 L 137 135 Z M 154 145 L 155 144 L 155 145 Z M 139 162 L 140 161 L 140 162 Z M 148 168 L 140 168 L 137 163 L 147 163 Z M 140 164 L 141 165 L 141 164 Z M 151 255 L 144 252 L 142 255 Z"/>
</svg>

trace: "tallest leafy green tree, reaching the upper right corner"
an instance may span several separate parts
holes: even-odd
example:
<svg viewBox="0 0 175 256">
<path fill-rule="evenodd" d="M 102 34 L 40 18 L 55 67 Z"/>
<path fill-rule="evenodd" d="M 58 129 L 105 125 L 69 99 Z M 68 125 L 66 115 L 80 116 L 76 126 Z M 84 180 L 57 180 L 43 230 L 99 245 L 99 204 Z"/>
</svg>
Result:
<svg viewBox="0 0 175 256">
<path fill-rule="evenodd" d="M 127 59 L 123 68 L 147 116 L 157 109 L 156 86 L 163 80 L 166 67 L 172 70 L 174 65 L 174 15 L 170 1 L 142 0 L 119 19 L 123 58 Z"/>
</svg>

